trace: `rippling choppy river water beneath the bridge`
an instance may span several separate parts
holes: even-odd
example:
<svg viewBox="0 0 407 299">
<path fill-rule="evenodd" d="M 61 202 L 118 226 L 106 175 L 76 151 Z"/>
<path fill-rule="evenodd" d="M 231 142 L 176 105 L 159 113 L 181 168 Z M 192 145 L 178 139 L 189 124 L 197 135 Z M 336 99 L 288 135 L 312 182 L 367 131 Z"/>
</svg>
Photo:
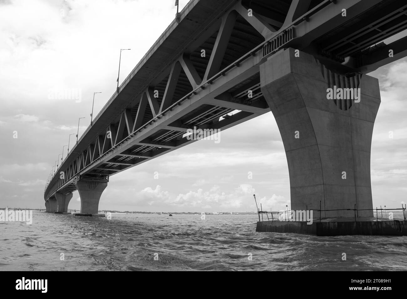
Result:
<svg viewBox="0 0 407 299">
<path fill-rule="evenodd" d="M 406 236 L 256 233 L 256 220 L 33 211 L 32 225 L 0 222 L 0 270 L 407 270 Z"/>
</svg>

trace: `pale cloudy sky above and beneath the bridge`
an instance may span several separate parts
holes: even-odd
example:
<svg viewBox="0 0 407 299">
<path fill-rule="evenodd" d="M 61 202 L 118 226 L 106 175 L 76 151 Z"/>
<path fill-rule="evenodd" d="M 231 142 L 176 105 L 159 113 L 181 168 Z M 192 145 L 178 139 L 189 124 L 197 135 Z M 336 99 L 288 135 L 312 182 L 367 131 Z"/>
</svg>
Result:
<svg viewBox="0 0 407 299">
<path fill-rule="evenodd" d="M 44 208 L 48 174 L 78 118 L 86 117 L 79 135 L 89 125 L 93 92 L 102 92 L 95 116 L 115 92 L 120 48 L 131 48 L 122 53 L 121 83 L 174 19 L 173 2 L 0 0 L 0 207 Z M 180 9 L 187 2 L 180 0 Z M 382 97 L 372 141 L 373 205 L 400 207 L 407 192 L 407 59 L 371 75 L 380 79 Z M 80 92 L 81 101 L 52 96 L 64 89 Z M 289 204 L 287 161 L 271 112 L 220 138 L 112 176 L 99 209 L 254 211 L 254 193 L 267 210 Z M 71 148 L 74 142 L 72 135 Z M 69 207 L 80 208 L 78 192 Z"/>
</svg>

